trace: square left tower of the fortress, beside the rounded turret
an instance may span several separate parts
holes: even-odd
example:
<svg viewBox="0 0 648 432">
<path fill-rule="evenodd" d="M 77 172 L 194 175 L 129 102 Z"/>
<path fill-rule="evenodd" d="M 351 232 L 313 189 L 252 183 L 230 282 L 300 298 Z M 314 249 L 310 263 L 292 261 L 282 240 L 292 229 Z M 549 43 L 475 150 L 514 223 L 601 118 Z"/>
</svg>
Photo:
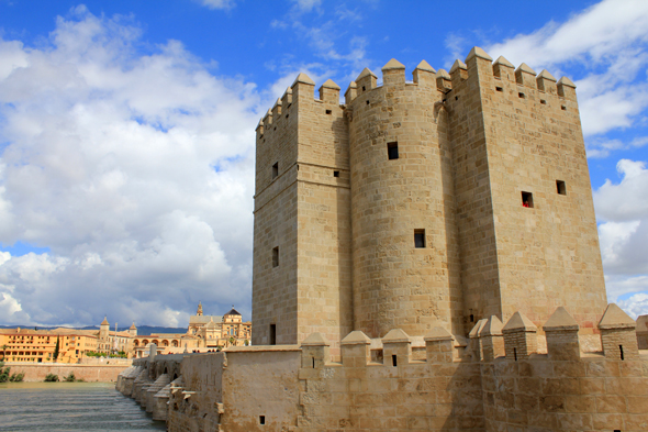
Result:
<svg viewBox="0 0 648 432">
<path fill-rule="evenodd" d="M 253 344 L 353 331 L 348 124 L 300 74 L 257 128 Z"/>
</svg>

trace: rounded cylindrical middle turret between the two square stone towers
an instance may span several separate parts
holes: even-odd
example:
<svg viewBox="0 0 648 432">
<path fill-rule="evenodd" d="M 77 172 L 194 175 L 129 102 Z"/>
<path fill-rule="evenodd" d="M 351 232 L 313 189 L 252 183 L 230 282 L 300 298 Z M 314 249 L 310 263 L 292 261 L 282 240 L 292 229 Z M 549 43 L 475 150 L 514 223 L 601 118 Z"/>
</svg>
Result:
<svg viewBox="0 0 648 432">
<path fill-rule="evenodd" d="M 434 82 L 427 63 L 417 81 L 424 74 Z M 406 82 L 395 59 L 382 75 L 382 87 L 366 86 L 347 107 L 355 330 L 463 333 L 444 92 Z"/>
</svg>

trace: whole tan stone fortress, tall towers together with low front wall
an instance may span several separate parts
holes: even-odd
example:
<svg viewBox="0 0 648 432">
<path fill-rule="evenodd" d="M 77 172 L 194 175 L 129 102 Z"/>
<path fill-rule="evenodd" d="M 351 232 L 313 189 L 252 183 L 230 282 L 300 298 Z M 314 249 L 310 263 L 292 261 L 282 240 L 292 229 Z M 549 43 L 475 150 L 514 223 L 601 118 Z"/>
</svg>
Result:
<svg viewBox="0 0 648 432">
<path fill-rule="evenodd" d="M 412 75 L 365 69 L 340 104 L 300 74 L 261 119 L 254 346 L 118 383 L 169 431 L 648 430 L 576 86 L 479 47 Z"/>
</svg>

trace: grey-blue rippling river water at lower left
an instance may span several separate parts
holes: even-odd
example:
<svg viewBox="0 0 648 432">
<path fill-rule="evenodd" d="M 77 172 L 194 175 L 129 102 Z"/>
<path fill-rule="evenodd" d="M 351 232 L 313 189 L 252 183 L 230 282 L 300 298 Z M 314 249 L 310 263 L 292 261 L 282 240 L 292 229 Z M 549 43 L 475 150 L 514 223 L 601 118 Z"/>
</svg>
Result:
<svg viewBox="0 0 648 432">
<path fill-rule="evenodd" d="M 113 383 L 0 384 L 0 431 L 166 431 Z"/>
</svg>

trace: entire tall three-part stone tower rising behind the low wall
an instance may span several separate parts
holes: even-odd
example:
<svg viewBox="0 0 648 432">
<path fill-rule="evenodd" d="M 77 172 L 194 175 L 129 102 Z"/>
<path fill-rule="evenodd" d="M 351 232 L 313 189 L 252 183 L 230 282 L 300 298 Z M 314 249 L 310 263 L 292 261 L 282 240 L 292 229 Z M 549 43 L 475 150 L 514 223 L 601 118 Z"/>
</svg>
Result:
<svg viewBox="0 0 648 432">
<path fill-rule="evenodd" d="M 574 85 L 474 47 L 449 74 L 392 59 L 339 104 L 303 74 L 257 128 L 253 343 L 466 335 L 605 286 Z"/>
</svg>

